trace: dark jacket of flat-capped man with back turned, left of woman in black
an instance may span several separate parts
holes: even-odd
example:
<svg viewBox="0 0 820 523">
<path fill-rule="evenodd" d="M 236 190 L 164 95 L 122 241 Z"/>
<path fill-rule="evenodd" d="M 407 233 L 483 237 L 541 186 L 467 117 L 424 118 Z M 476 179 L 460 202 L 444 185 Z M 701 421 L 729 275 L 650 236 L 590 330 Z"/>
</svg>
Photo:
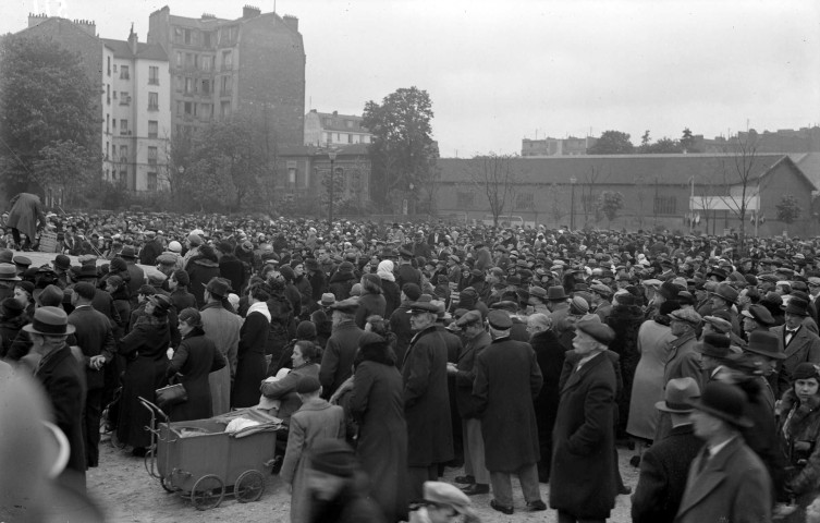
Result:
<svg viewBox="0 0 820 523">
<path fill-rule="evenodd" d="M 83 351 L 86 386 L 88 390 L 100 389 L 105 385 L 105 370 L 102 368 L 95 370 L 88 364 L 91 356 L 102 355 L 106 357 L 106 363 L 114 357 L 117 345 L 111 321 L 99 311 L 85 306 L 75 308 L 69 315 L 69 323 L 76 329 L 74 336 L 77 339 L 77 345 Z"/>
</svg>

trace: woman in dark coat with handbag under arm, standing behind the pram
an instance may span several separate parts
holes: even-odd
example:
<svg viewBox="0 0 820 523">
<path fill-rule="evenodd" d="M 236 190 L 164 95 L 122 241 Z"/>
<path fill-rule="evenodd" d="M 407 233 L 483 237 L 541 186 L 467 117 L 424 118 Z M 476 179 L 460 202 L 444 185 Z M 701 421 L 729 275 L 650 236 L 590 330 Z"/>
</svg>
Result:
<svg viewBox="0 0 820 523">
<path fill-rule="evenodd" d="M 180 374 L 179 380 L 185 387 L 188 400 L 171 406 L 172 422 L 203 419 L 213 415 L 208 375 L 224 367 L 228 362 L 217 345 L 205 337 L 203 318 L 196 308 L 185 308 L 180 313 L 182 342 L 176 348 L 166 377 Z"/>
</svg>

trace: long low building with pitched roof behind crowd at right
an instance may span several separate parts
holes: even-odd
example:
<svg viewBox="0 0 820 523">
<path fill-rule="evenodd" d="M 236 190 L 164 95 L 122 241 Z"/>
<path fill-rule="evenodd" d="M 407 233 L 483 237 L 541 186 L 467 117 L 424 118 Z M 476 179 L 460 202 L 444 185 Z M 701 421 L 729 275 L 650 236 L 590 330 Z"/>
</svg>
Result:
<svg viewBox="0 0 820 523">
<path fill-rule="evenodd" d="M 617 155 L 510 159 L 510 187 L 502 217 L 550 228 L 670 231 L 722 234 L 739 229 L 744 184 L 733 155 Z M 442 217 L 486 220 L 491 216 L 480 159 L 437 162 L 436 208 Z M 758 155 L 745 177 L 746 232 L 818 234 L 812 216 L 815 184 L 787 155 Z M 503 187 L 505 183 L 499 186 Z M 624 205 L 610 221 L 597 209 L 604 191 Z M 800 218 L 778 220 L 784 195 L 797 198 Z M 757 220 L 757 222 L 756 222 Z M 503 220 L 502 220 L 503 221 Z"/>
</svg>

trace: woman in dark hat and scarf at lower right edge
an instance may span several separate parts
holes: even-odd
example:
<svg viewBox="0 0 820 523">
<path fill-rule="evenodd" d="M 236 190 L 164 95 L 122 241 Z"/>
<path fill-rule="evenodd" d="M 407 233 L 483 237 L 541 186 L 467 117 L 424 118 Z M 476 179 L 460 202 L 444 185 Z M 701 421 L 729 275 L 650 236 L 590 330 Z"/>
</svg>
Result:
<svg viewBox="0 0 820 523">
<path fill-rule="evenodd" d="M 811 363 L 797 365 L 792 387 L 779 402 L 781 446 L 788 460 L 785 496 L 796 510 L 781 520 L 803 522 L 806 507 L 820 494 L 820 373 Z"/>
</svg>

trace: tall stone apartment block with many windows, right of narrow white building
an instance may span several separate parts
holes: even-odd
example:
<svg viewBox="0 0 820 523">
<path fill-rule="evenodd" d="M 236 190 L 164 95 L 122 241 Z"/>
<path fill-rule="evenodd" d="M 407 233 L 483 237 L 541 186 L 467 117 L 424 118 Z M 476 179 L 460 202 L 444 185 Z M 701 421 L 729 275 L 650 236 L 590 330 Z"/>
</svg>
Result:
<svg viewBox="0 0 820 523">
<path fill-rule="evenodd" d="M 242 17 L 151 13 L 148 42 L 168 52 L 174 132 L 243 113 L 278 145 L 304 138 L 305 48 L 298 20 L 245 5 Z"/>
</svg>

